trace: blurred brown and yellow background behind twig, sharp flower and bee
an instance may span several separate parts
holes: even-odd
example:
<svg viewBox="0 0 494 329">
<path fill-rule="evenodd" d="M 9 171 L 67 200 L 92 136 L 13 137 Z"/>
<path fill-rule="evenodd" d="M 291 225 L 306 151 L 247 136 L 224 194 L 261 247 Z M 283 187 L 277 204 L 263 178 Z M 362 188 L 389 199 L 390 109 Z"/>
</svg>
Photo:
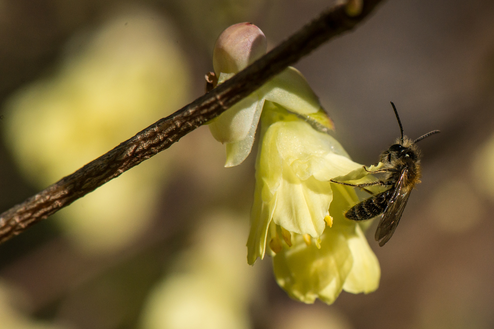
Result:
<svg viewBox="0 0 494 329">
<path fill-rule="evenodd" d="M 204 93 L 216 37 L 272 48 L 323 0 L 0 0 L 0 211 Z M 0 245 L 0 328 L 494 327 L 494 2 L 388 0 L 295 65 L 357 162 L 399 136 L 423 178 L 380 288 L 292 301 L 246 261 L 255 150 L 223 168 L 207 127 Z"/>
</svg>

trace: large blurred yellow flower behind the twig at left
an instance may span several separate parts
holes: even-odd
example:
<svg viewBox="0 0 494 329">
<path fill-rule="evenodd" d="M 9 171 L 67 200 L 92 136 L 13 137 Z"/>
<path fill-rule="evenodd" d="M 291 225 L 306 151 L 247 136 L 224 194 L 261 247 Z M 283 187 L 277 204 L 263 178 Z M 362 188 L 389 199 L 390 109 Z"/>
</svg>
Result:
<svg viewBox="0 0 494 329">
<path fill-rule="evenodd" d="M 51 76 L 6 104 L 7 145 L 38 188 L 180 108 L 187 96 L 184 56 L 171 26 L 152 12 L 113 18 L 75 49 Z M 142 234 L 165 180 L 166 153 L 61 210 L 59 223 L 72 241 L 86 252 L 107 253 Z"/>
</svg>

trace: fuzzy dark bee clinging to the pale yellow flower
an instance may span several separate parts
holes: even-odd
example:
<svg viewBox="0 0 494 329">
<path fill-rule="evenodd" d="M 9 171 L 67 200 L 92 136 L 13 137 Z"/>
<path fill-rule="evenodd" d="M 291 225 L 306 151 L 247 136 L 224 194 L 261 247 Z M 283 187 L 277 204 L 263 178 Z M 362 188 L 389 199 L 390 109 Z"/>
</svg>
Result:
<svg viewBox="0 0 494 329">
<path fill-rule="evenodd" d="M 367 172 L 374 174 L 383 173 L 385 179 L 362 184 L 350 184 L 330 180 L 333 183 L 360 188 L 371 185 L 390 187 L 384 192 L 361 201 L 345 212 L 345 217 L 352 220 L 366 220 L 381 215 L 374 235 L 375 241 L 379 242 L 379 246 L 381 247 L 393 236 L 403 210 L 407 205 L 410 192 L 415 184 L 420 183 L 420 158 L 422 154 L 416 143 L 440 132 L 439 130 L 433 130 L 412 141 L 403 135 L 403 127 L 398 111 L 393 102 L 391 102 L 391 106 L 395 111 L 396 119 L 400 126 L 401 139 L 397 139 L 396 144 L 393 144 L 388 150 L 382 152 L 379 160 L 384 166 L 381 169 L 368 171 L 364 166 Z M 369 190 L 366 191 L 371 193 Z"/>
</svg>

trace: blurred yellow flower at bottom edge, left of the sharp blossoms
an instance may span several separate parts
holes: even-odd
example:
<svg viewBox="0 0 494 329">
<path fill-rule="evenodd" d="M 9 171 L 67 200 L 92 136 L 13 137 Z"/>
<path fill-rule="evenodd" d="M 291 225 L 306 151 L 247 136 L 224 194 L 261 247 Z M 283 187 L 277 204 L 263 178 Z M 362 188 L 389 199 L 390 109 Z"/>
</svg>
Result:
<svg viewBox="0 0 494 329">
<path fill-rule="evenodd" d="M 197 226 L 178 270 L 157 285 L 143 310 L 143 329 L 248 329 L 260 272 L 244 261 L 246 220 L 226 212 Z"/>
</svg>

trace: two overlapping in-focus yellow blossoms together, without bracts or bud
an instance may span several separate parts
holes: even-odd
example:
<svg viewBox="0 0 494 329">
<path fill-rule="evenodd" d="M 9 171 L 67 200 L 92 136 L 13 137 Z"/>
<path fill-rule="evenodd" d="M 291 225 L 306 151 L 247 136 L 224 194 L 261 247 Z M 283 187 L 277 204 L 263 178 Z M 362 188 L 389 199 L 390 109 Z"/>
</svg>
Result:
<svg viewBox="0 0 494 329">
<path fill-rule="evenodd" d="M 380 269 L 362 224 L 346 219 L 359 202 L 348 186 L 368 174 L 331 136 L 274 103 L 261 116 L 261 145 L 247 241 L 253 264 L 266 249 L 278 284 L 306 303 L 332 303 L 344 289 L 371 292 Z"/>
</svg>

